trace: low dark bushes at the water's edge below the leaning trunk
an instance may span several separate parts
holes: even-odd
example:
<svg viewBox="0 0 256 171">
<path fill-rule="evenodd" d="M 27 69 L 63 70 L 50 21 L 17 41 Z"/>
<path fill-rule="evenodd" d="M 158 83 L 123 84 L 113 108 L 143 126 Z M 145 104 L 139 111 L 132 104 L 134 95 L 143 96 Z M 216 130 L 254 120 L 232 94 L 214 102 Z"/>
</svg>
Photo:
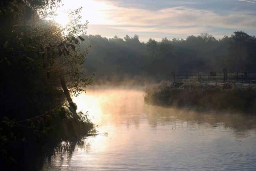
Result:
<svg viewBox="0 0 256 171">
<path fill-rule="evenodd" d="M 78 113 L 77 121 L 67 106 L 23 121 L 4 117 L 0 127 L 1 164 L 2 167 L 7 165 L 13 169 L 24 167 L 22 163 L 24 159 L 22 156 L 19 158 L 18 155 L 22 150 L 30 150 L 38 144 L 42 146 L 49 141 L 79 140 L 94 130 L 94 125 L 87 114 Z M 14 163 L 17 165 L 13 165 Z"/>
</svg>

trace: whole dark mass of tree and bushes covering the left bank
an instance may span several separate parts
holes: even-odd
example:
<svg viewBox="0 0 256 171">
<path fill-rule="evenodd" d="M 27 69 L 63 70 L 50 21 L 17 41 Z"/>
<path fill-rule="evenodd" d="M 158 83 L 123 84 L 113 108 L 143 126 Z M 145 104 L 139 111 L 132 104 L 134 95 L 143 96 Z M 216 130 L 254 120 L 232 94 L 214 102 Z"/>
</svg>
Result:
<svg viewBox="0 0 256 171">
<path fill-rule="evenodd" d="M 23 166 L 22 153 L 30 147 L 79 139 L 93 129 L 87 115 L 76 112 L 69 94 L 78 96 L 92 82 L 82 69 L 87 49 L 79 49 L 84 40 L 79 35 L 85 33 L 87 23 L 80 22 L 81 8 L 69 12 L 73 17 L 65 28 L 44 20 L 58 4 L 54 0 L 0 3 L 3 167 L 17 170 Z"/>
</svg>

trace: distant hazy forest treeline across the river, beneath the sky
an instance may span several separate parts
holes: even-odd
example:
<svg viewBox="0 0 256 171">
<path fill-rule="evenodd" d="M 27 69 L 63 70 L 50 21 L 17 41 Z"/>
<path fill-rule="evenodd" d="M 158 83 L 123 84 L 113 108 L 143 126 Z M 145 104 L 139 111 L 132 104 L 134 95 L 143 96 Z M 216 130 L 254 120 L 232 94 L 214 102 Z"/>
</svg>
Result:
<svg viewBox="0 0 256 171">
<path fill-rule="evenodd" d="M 208 33 L 186 39 L 163 38 L 140 42 L 139 36 L 83 36 L 82 49 L 91 46 L 85 62 L 94 80 L 124 78 L 172 79 L 172 71 L 256 72 L 256 37 L 236 31 L 217 40 Z"/>
</svg>

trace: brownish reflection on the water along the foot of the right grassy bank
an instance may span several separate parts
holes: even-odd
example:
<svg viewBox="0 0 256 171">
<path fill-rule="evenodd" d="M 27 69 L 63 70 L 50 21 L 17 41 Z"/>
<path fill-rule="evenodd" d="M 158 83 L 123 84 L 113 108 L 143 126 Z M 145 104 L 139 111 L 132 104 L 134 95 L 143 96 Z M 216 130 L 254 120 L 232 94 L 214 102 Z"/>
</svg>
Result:
<svg viewBox="0 0 256 171">
<path fill-rule="evenodd" d="M 188 125 L 201 125 L 232 129 L 235 132 L 245 132 L 256 129 L 256 117 L 252 115 L 231 113 L 203 113 L 189 109 L 164 108 L 149 106 L 146 108 L 148 123 L 155 127 L 157 124 L 186 123 Z"/>
</svg>

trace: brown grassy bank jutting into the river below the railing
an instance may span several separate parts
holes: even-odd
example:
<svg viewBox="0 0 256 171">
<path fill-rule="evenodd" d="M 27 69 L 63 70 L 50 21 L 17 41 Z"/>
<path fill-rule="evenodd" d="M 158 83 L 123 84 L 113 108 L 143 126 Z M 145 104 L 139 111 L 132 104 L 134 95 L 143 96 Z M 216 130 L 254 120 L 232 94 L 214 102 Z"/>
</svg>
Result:
<svg viewBox="0 0 256 171">
<path fill-rule="evenodd" d="M 255 113 L 256 90 L 235 84 L 221 85 L 162 82 L 145 89 L 145 101 L 159 106 L 187 107 L 199 110 L 227 110 Z"/>
</svg>

